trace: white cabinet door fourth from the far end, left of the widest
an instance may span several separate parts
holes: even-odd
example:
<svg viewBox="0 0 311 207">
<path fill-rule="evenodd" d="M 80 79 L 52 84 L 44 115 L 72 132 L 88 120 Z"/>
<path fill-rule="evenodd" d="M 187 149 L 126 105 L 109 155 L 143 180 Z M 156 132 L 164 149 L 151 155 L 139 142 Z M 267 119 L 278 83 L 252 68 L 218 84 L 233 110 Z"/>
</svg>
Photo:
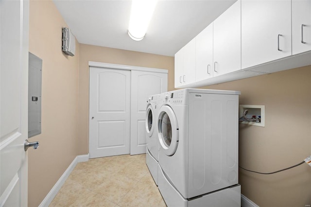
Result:
<svg viewBox="0 0 311 207">
<path fill-rule="evenodd" d="M 213 27 L 213 76 L 241 69 L 241 1 L 235 2 L 219 16 Z"/>
</svg>

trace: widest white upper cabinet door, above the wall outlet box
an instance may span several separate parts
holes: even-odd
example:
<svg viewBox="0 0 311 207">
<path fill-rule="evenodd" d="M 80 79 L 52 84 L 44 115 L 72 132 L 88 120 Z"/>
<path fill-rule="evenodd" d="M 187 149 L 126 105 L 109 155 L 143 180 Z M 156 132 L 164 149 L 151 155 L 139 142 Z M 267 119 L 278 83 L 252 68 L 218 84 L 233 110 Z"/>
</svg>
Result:
<svg viewBox="0 0 311 207">
<path fill-rule="evenodd" d="M 242 69 L 291 55 L 291 0 L 241 3 Z"/>
</svg>

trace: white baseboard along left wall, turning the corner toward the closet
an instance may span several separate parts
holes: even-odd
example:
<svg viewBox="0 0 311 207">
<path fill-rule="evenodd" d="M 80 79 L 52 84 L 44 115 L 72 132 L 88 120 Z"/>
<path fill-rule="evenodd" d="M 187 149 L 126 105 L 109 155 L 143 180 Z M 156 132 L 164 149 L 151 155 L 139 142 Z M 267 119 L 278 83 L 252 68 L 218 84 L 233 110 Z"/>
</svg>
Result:
<svg viewBox="0 0 311 207">
<path fill-rule="evenodd" d="M 54 197 L 56 196 L 56 194 L 58 193 L 58 191 L 60 190 L 60 188 L 63 186 L 63 184 L 69 177 L 74 167 L 77 165 L 77 163 L 86 162 L 88 161 L 88 159 L 89 159 L 89 154 L 76 156 L 71 162 L 71 164 L 69 165 L 69 167 L 67 168 L 67 170 L 62 174 L 62 176 L 58 179 L 58 181 L 55 183 L 55 185 L 50 190 L 50 192 L 47 194 L 47 196 L 43 199 L 39 207 L 48 207 L 51 204 Z"/>
</svg>

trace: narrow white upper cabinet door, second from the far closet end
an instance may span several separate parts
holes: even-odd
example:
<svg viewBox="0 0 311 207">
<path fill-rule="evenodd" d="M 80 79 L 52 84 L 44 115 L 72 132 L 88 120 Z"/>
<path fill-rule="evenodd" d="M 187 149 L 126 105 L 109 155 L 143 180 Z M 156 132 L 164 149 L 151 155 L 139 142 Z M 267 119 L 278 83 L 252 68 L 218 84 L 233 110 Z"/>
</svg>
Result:
<svg viewBox="0 0 311 207">
<path fill-rule="evenodd" d="M 184 75 L 183 84 L 195 82 L 195 38 L 193 38 L 184 50 Z"/>
</svg>

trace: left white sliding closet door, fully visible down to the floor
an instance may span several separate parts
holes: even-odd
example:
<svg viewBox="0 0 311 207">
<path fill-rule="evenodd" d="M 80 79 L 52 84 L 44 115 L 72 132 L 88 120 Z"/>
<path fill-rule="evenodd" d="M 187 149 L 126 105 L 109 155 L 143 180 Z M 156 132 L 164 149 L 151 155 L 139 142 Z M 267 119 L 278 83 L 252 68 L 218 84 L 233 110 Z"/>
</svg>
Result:
<svg viewBox="0 0 311 207">
<path fill-rule="evenodd" d="M 90 158 L 130 153 L 131 71 L 90 67 Z"/>
</svg>

